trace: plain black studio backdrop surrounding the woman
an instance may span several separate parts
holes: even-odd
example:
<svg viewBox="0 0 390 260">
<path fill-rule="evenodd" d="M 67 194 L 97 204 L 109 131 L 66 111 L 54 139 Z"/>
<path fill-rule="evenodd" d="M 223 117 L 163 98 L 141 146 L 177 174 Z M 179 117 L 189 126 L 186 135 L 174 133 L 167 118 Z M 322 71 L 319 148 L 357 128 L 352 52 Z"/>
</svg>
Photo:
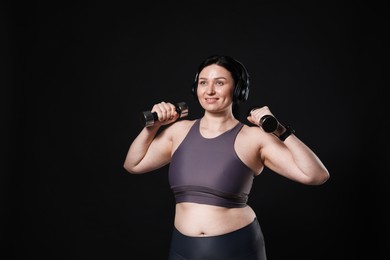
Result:
<svg viewBox="0 0 390 260">
<path fill-rule="evenodd" d="M 190 88 L 214 53 L 251 75 L 243 121 L 268 105 L 331 174 L 316 187 L 255 179 L 269 260 L 388 259 L 384 6 L 3 1 L 0 15 L 4 259 L 166 259 L 167 167 L 122 166 L 141 111 L 185 101 L 201 116 Z"/>
</svg>

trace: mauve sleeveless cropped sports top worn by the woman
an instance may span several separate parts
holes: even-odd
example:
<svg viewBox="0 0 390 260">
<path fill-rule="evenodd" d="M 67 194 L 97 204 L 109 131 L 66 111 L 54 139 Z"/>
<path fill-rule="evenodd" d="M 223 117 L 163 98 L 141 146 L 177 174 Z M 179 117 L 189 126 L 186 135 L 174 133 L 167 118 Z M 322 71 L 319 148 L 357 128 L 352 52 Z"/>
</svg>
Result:
<svg viewBox="0 0 390 260">
<path fill-rule="evenodd" d="M 215 138 L 204 138 L 199 126 L 200 120 L 196 120 L 169 165 L 169 184 L 176 203 L 245 207 L 255 173 L 234 150 L 243 124 Z"/>
</svg>

